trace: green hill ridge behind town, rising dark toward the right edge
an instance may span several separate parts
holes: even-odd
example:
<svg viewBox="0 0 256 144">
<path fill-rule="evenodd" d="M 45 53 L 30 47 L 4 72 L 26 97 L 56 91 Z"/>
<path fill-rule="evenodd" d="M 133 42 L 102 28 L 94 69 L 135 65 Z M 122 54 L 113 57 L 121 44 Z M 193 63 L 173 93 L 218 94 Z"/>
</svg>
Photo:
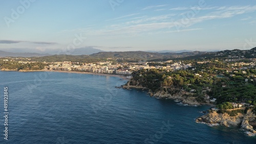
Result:
<svg viewBox="0 0 256 144">
<path fill-rule="evenodd" d="M 3 53 L 3 52 L 2 52 Z M 0 51 L 0 55 L 2 54 Z M 33 53 L 23 53 L 33 54 Z M 40 54 L 39 54 L 40 55 Z M 13 56 L 13 55 L 12 55 Z M 251 50 L 225 50 L 219 52 L 182 52 L 182 53 L 150 53 L 150 52 L 99 52 L 91 55 L 53 55 L 44 57 L 34 57 L 33 61 L 77 61 L 77 62 L 97 62 L 104 61 L 107 58 L 114 58 L 120 61 L 167 61 L 167 60 L 188 60 L 199 58 L 220 58 L 220 59 L 240 59 L 255 58 L 256 47 Z"/>
</svg>

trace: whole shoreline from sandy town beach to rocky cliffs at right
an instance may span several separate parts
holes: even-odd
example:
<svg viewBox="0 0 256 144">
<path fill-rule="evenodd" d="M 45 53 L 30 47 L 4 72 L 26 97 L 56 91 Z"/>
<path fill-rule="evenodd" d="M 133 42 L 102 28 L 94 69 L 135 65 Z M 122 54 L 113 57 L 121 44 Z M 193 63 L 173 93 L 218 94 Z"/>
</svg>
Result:
<svg viewBox="0 0 256 144">
<path fill-rule="evenodd" d="M 17 70 L 0 70 L 0 71 L 17 71 Z M 82 71 L 65 71 L 65 70 L 20 70 L 18 72 L 35 72 L 35 71 L 46 71 L 46 72 L 59 72 L 59 73 L 74 73 L 74 74 L 90 74 L 90 75 L 99 75 L 99 76 L 110 76 L 110 77 L 117 77 L 121 78 L 122 80 L 129 80 L 125 76 L 121 75 L 111 75 L 111 74 L 97 74 L 97 73 L 88 73 L 88 72 L 82 72 Z M 138 89 L 148 89 L 146 87 L 142 87 L 140 85 L 123 85 L 122 86 L 125 89 L 130 88 L 138 88 Z M 157 91 L 153 93 L 152 91 L 148 91 L 148 93 L 151 94 L 151 97 L 154 97 L 156 99 L 172 99 L 172 100 L 179 100 L 181 104 L 187 104 L 186 106 L 200 106 L 200 105 L 208 105 L 210 107 L 214 107 L 215 105 L 211 103 L 199 103 L 194 101 L 194 97 L 184 97 L 183 92 L 178 92 L 174 94 L 169 94 L 164 91 Z M 193 99 L 191 99 L 193 98 Z M 241 125 L 241 128 L 247 133 L 247 136 L 255 136 L 256 131 L 253 130 L 253 127 L 249 124 L 249 121 L 247 118 L 247 115 L 253 115 L 253 114 L 247 114 L 247 115 L 238 115 L 238 116 L 229 116 L 227 114 L 217 114 L 217 112 L 214 112 L 215 114 L 208 113 L 203 116 L 196 118 L 196 123 L 201 124 L 207 124 L 208 126 L 216 126 L 216 125 L 223 125 L 226 127 L 238 127 Z"/>
</svg>

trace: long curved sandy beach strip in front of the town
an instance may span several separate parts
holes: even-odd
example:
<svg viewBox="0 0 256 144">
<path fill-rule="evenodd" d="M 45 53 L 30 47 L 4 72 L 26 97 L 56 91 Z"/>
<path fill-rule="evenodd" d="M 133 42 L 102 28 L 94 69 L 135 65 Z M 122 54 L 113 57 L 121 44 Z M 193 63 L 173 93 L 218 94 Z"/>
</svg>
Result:
<svg viewBox="0 0 256 144">
<path fill-rule="evenodd" d="M 4 69 L 4 70 L 0 70 L 0 71 L 18 71 L 18 70 Z M 82 71 L 65 71 L 65 70 L 46 70 L 46 69 L 42 69 L 42 70 L 19 70 L 18 72 L 36 72 L 36 71 L 59 72 L 59 73 L 74 73 L 74 74 L 90 74 L 90 75 L 117 77 L 117 78 L 121 78 L 123 80 L 129 80 L 125 76 L 121 76 L 121 75 L 88 73 L 88 72 L 82 72 Z"/>
</svg>

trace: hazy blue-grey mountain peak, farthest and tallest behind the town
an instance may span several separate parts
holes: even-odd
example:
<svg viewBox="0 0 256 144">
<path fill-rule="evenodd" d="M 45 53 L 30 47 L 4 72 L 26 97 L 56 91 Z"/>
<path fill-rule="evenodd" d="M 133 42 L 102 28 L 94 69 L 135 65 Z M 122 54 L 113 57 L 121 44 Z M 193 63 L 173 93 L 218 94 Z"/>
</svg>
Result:
<svg viewBox="0 0 256 144">
<path fill-rule="evenodd" d="M 71 51 L 67 51 L 67 53 L 60 53 L 61 55 L 91 55 L 95 53 L 103 52 L 99 49 L 94 49 L 93 47 L 81 47 L 78 49 L 73 49 Z"/>
</svg>

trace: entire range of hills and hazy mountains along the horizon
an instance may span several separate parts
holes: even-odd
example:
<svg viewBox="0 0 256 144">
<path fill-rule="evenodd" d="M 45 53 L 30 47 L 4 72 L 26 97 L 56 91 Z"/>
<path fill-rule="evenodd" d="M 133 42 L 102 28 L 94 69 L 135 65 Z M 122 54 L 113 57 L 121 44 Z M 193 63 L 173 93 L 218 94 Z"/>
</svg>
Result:
<svg viewBox="0 0 256 144">
<path fill-rule="evenodd" d="M 182 50 L 186 51 L 186 50 Z M 160 51 L 164 52 L 164 51 Z M 106 58 L 114 58 L 125 61 L 138 61 L 138 60 L 153 60 L 153 61 L 164 61 L 168 59 L 197 59 L 197 58 L 225 58 L 225 59 L 239 59 L 239 58 L 255 58 L 256 47 L 251 50 L 225 50 L 218 52 L 103 52 L 99 49 L 83 47 L 67 52 L 58 52 L 58 55 L 51 54 L 38 54 L 38 53 L 12 53 L 0 51 L 0 57 L 33 57 L 34 61 L 54 61 L 54 60 L 65 60 L 73 61 L 76 59 L 84 60 L 104 60 Z"/>
</svg>

